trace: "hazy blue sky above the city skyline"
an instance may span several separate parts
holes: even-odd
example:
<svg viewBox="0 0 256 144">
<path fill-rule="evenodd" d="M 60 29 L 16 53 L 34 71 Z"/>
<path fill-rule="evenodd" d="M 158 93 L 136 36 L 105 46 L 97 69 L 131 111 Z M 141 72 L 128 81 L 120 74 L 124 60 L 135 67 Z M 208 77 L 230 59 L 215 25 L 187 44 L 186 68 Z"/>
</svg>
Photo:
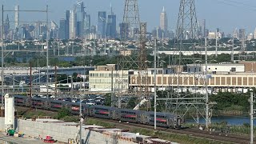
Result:
<svg viewBox="0 0 256 144">
<path fill-rule="evenodd" d="M 49 18 L 59 22 L 64 18 L 65 10 L 73 9 L 76 0 L 1 0 L 0 4 L 7 10 L 14 10 L 19 4 L 20 10 L 42 10 L 49 5 Z M 91 15 L 93 25 L 97 23 L 97 12 L 106 10 L 110 12 L 112 3 L 114 13 L 117 14 L 117 21 L 122 22 L 122 14 L 125 0 L 83 0 L 86 12 Z M 169 30 L 174 30 L 178 18 L 179 0 L 138 0 L 139 13 L 142 22 L 148 22 L 148 30 L 159 26 L 159 14 L 165 6 Z M 245 28 L 246 33 L 253 33 L 256 27 L 256 1 L 255 0 L 195 0 L 198 21 L 206 19 L 206 28 L 214 30 L 219 27 L 226 33 L 234 28 Z M 14 19 L 14 14 L 9 14 Z M 45 14 L 20 14 L 23 20 L 43 20 Z"/>
</svg>

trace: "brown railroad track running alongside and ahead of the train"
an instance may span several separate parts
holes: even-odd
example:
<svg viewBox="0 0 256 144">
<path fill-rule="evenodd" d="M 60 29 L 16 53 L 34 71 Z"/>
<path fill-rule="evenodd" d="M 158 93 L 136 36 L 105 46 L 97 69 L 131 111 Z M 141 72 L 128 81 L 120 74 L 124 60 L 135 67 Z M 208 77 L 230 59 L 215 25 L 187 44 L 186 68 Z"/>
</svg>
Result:
<svg viewBox="0 0 256 144">
<path fill-rule="evenodd" d="M 18 106 L 21 107 L 22 109 L 30 109 L 28 107 L 23 107 L 23 106 Z M 44 110 L 44 111 L 50 111 L 54 112 L 51 110 Z M 56 112 L 57 113 L 57 112 Z M 142 125 L 138 123 L 131 123 L 131 122 L 118 122 L 112 119 L 106 119 L 106 118 L 94 118 L 90 117 L 92 119 L 96 120 L 102 120 L 103 122 L 109 122 L 117 126 L 117 128 L 123 128 L 124 126 L 126 127 L 134 127 L 134 128 L 143 128 L 143 129 L 148 129 L 148 130 L 154 130 L 154 126 L 150 125 Z M 191 137 L 195 138 L 206 138 L 210 140 L 214 140 L 217 142 L 231 142 L 231 143 L 238 143 L 238 144 L 246 144 L 250 143 L 250 138 L 242 137 L 240 135 L 234 135 L 234 134 L 222 134 L 218 132 L 208 132 L 205 130 L 198 130 L 198 129 L 190 129 L 190 128 L 182 128 L 180 130 L 175 130 L 175 129 L 167 129 L 165 127 L 157 127 L 157 131 L 162 131 L 162 132 L 167 132 L 167 133 L 173 133 L 173 134 L 182 134 L 182 135 L 190 135 Z"/>
</svg>

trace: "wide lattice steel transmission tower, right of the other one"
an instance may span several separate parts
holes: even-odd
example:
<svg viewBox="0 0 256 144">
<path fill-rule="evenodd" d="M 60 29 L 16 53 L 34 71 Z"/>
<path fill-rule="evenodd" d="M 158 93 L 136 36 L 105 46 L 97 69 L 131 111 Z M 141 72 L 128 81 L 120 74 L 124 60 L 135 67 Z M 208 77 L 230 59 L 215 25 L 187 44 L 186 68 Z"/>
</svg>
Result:
<svg viewBox="0 0 256 144">
<path fill-rule="evenodd" d="M 174 114 L 182 116 L 190 114 L 196 122 L 201 116 L 209 120 L 208 113 L 206 114 L 208 110 L 208 108 L 206 110 L 206 105 L 208 106 L 206 73 L 199 72 L 202 67 L 202 56 L 196 57 L 206 46 L 199 46 L 197 26 L 194 0 L 181 0 L 174 45 L 175 54 L 171 64 L 174 74 L 170 74 L 170 78 L 168 78 L 170 91 L 167 98 L 158 98 L 160 101 L 166 101 L 166 104 L 169 105 L 167 107 Z M 190 57 L 182 55 L 182 51 L 190 51 Z M 184 73 L 187 64 L 190 64 L 193 70 Z M 198 94 L 198 89 L 204 90 L 206 94 Z"/>
</svg>

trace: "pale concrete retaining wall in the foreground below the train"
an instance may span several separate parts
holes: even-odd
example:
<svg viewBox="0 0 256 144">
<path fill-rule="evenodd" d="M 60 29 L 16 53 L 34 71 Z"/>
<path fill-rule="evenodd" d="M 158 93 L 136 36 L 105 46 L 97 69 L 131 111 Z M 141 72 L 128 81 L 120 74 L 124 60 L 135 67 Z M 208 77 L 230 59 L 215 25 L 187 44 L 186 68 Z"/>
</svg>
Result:
<svg viewBox="0 0 256 144">
<path fill-rule="evenodd" d="M 0 118 L 0 130 L 4 131 L 4 118 Z M 75 138 L 77 133 L 77 126 L 64 126 L 62 122 L 33 122 L 30 120 L 18 119 L 15 122 L 15 127 L 19 132 L 22 132 L 31 137 L 46 138 L 46 135 L 52 136 L 58 142 L 68 142 L 69 138 Z M 18 126 L 18 127 L 17 127 Z M 82 130 L 82 140 L 86 144 L 133 144 L 134 142 L 129 142 L 117 138 L 111 134 L 103 134 L 94 130 L 83 129 Z"/>
</svg>

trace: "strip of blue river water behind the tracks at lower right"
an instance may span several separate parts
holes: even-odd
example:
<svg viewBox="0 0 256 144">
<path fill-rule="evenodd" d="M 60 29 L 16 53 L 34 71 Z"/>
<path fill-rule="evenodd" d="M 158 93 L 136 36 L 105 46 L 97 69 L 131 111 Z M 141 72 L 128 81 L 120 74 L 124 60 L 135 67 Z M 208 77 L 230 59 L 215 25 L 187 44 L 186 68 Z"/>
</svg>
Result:
<svg viewBox="0 0 256 144">
<path fill-rule="evenodd" d="M 195 122 L 194 119 L 187 119 L 186 122 Z M 199 123 L 205 123 L 204 118 L 200 118 Z M 211 118 L 211 122 L 227 122 L 228 125 L 242 125 L 244 123 L 250 123 L 250 117 L 246 116 L 218 116 Z M 254 125 L 256 120 L 254 119 Z"/>
</svg>

